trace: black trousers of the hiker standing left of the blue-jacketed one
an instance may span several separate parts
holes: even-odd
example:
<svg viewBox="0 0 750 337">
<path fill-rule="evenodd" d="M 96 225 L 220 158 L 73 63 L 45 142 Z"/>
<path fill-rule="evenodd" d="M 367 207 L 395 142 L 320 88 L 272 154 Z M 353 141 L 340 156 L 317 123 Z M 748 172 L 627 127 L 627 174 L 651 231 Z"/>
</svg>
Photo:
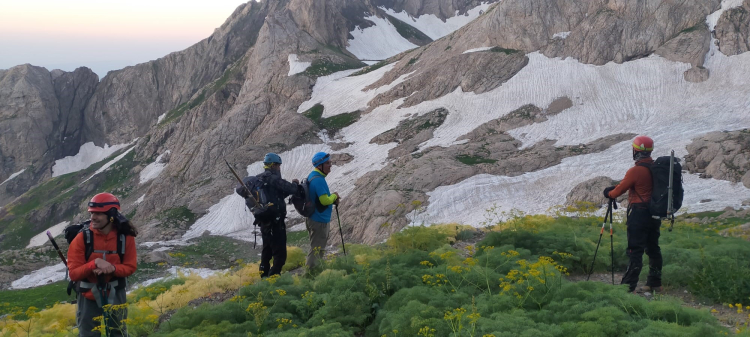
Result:
<svg viewBox="0 0 750 337">
<path fill-rule="evenodd" d="M 261 224 L 260 234 L 263 238 L 263 250 L 260 252 L 260 277 L 281 274 L 281 268 L 286 263 L 286 224 L 284 224 L 284 219 Z M 273 258 L 273 266 L 271 266 L 271 258 Z"/>
</svg>

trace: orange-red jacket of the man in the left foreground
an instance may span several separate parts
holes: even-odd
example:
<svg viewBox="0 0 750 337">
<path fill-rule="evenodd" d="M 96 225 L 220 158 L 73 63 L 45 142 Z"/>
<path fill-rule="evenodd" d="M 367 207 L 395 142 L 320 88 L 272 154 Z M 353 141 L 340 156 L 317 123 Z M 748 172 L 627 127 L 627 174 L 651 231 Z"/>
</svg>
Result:
<svg viewBox="0 0 750 337">
<path fill-rule="evenodd" d="M 116 251 L 117 250 L 117 229 L 112 228 L 109 233 L 104 234 L 98 229 L 91 228 L 91 234 L 94 239 L 94 250 L 103 251 Z M 70 279 L 73 281 L 88 281 L 96 283 L 96 264 L 94 260 L 101 258 L 102 253 L 91 253 L 89 259 L 86 260 L 86 245 L 84 243 L 84 235 L 79 233 L 75 239 L 70 243 L 68 247 L 68 273 Z M 107 254 L 107 262 L 115 266 L 115 272 L 113 274 L 105 275 L 105 279 L 109 282 L 112 279 L 127 277 L 132 275 L 137 266 L 137 254 L 135 251 L 135 238 L 132 236 L 125 236 L 125 256 L 124 261 L 120 261 L 120 255 L 117 253 Z M 94 295 L 90 291 L 83 293 L 86 298 L 94 300 Z"/>
</svg>

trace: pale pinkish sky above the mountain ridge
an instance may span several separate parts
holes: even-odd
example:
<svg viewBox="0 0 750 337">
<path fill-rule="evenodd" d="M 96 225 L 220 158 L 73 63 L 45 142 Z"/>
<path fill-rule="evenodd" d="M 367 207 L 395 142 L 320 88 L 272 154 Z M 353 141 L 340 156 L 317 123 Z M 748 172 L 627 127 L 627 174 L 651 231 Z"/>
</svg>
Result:
<svg viewBox="0 0 750 337">
<path fill-rule="evenodd" d="M 0 0 L 0 69 L 107 71 L 207 38 L 248 0 Z"/>
</svg>

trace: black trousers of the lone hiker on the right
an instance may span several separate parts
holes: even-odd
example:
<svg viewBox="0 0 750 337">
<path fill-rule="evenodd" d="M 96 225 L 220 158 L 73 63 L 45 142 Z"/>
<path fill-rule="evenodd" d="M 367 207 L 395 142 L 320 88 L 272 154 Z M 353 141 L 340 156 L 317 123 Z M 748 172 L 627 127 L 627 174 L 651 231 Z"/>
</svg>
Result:
<svg viewBox="0 0 750 337">
<path fill-rule="evenodd" d="M 621 284 L 630 286 L 630 291 L 635 291 L 638 278 L 643 269 L 643 253 L 648 255 L 648 279 L 646 285 L 650 287 L 661 287 L 661 248 L 659 248 L 659 227 L 661 220 L 651 217 L 648 204 L 633 204 L 628 207 L 628 250 L 630 264 Z"/>
</svg>

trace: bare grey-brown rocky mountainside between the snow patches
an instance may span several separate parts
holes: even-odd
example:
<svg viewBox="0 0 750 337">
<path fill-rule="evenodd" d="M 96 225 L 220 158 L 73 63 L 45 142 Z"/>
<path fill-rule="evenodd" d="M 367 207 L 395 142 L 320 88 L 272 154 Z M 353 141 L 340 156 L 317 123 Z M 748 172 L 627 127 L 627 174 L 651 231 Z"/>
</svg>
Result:
<svg viewBox="0 0 750 337">
<path fill-rule="evenodd" d="M 339 128 L 345 128 L 373 118 L 382 109 L 419 107 L 456 92 L 492 92 L 527 69 L 533 53 L 572 58 L 592 67 L 660 55 L 689 64 L 679 81 L 702 83 L 711 76 L 705 67 L 711 41 L 717 41 L 727 55 L 745 50 L 742 42 L 748 35 L 742 23 L 748 19 L 740 8 L 744 10 L 749 3 L 745 0 L 741 7 L 724 12 L 712 35 L 705 22 L 721 8 L 719 0 L 503 0 L 452 34 L 433 42 L 425 40 L 427 44 L 361 70 L 373 74 L 382 67 L 382 76 L 365 90 L 378 90 L 378 94 L 363 107 L 345 109 L 342 114 L 326 104 L 318 117 L 311 114 L 313 109 L 298 110 L 314 97 L 321 81 L 364 67 L 347 49 L 352 32 L 384 29 L 366 18 L 386 16 L 387 9 L 405 11 L 414 20 L 435 15 L 445 22 L 480 2 L 250 1 L 193 47 L 111 72 L 101 82 L 88 69 L 61 73 L 19 66 L 0 71 L 0 128 L 12 131 L 0 134 L 0 181 L 28 169 L 0 185 L 4 207 L 0 235 L 6 235 L 0 238 L 0 246 L 19 247 L 29 233 L 70 214 L 82 218 L 86 198 L 101 187 L 119 192 L 126 212 L 134 212 L 133 220 L 143 228 L 144 241 L 179 239 L 187 228 L 165 228 L 166 217 L 183 208 L 200 217 L 231 193 L 233 182 L 221 165 L 224 159 L 244 166 L 268 151 L 318 146 L 335 148 L 338 168 L 349 165 L 346 170 L 352 171 L 348 167 L 368 153 L 358 152 L 360 147 L 352 147 L 346 136 L 321 135 L 322 129 L 332 129 L 331 123 L 343 123 Z M 392 29 L 398 30 L 398 22 L 407 21 L 393 21 Z M 482 50 L 470 52 L 477 48 Z M 295 62 L 309 65 L 290 75 L 290 55 L 295 55 Z M 392 131 L 368 137 L 366 142 L 373 146 L 394 145 L 382 168 L 353 170 L 341 177 L 351 181 L 346 187 L 351 193 L 342 204 L 342 216 L 348 219 L 347 240 L 378 242 L 400 230 L 414 220 L 415 210 L 430 205 L 429 193 L 440 186 L 483 174 L 516 177 L 537 172 L 566 158 L 601 153 L 632 137 L 633 133 L 623 130 L 575 145 L 557 144 L 554 139 L 525 144 L 519 134 L 518 130 L 555 119 L 561 112 L 578 111 L 584 104 L 589 102 L 566 95 L 543 105 L 526 102 L 507 114 L 488 118 L 456 137 L 457 143 L 450 146 L 424 146 L 460 120 L 456 108 L 448 104 L 429 109 L 434 112 L 429 117 L 405 118 Z M 352 119 L 333 120 L 341 116 Z M 37 124 L 39 131 L 27 135 L 26 130 Z M 55 160 L 75 154 L 86 142 L 113 145 L 135 139 L 117 172 L 110 169 L 103 174 L 106 177 L 56 191 L 72 193 L 75 200 L 42 202 L 26 210 L 30 198 L 21 194 L 34 192 L 32 186 L 39 189 L 48 187 L 45 182 L 56 181 L 50 180 Z M 163 171 L 142 183 L 139 175 L 144 168 L 167 151 L 169 155 L 160 162 Z M 38 221 L 41 215 L 46 215 L 43 222 Z M 23 226 L 31 227 L 28 233 L 9 230 L 21 226 L 20 219 L 26 221 Z"/>
</svg>

